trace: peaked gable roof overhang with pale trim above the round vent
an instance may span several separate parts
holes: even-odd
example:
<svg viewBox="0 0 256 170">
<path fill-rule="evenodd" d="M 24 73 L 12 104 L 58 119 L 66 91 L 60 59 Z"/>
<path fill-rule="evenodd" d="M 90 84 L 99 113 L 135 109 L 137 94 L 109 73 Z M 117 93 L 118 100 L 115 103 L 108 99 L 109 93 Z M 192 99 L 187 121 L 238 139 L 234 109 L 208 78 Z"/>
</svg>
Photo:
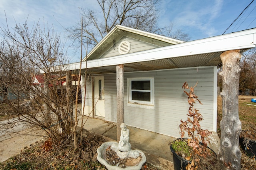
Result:
<svg viewBox="0 0 256 170">
<path fill-rule="evenodd" d="M 177 43 L 183 43 L 184 41 L 176 40 L 174 38 L 168 38 L 165 36 L 160 36 L 158 34 L 153 34 L 150 32 L 145 32 L 137 30 L 134 28 L 129 28 L 126 26 L 116 25 L 93 49 L 88 53 L 87 60 L 98 59 L 102 51 L 108 49 L 112 46 L 113 41 L 120 40 L 123 36 L 134 38 L 146 43 L 154 44 L 159 47 L 164 47 L 168 45 L 174 45 Z M 82 60 L 85 61 L 86 57 Z"/>
</svg>

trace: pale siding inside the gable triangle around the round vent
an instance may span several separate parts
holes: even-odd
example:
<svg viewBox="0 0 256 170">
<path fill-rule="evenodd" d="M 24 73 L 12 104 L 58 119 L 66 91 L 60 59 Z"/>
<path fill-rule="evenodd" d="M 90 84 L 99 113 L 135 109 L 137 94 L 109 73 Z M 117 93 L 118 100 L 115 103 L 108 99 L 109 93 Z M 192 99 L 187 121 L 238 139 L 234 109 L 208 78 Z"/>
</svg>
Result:
<svg viewBox="0 0 256 170">
<path fill-rule="evenodd" d="M 129 53 L 134 53 L 137 51 L 145 51 L 148 49 L 153 49 L 158 47 L 157 45 L 153 45 L 150 43 L 146 43 L 146 42 L 142 42 L 140 40 L 136 40 L 134 38 L 130 38 L 130 37 L 122 37 L 120 40 L 118 40 L 118 42 L 116 42 L 116 48 L 113 48 L 113 45 L 111 45 L 110 49 L 108 49 L 106 51 L 106 53 L 104 53 L 100 58 L 106 58 L 106 57 L 112 57 L 112 56 L 116 56 L 116 55 L 120 55 L 120 53 L 118 52 L 118 46 L 122 41 L 128 41 L 130 43 L 130 51 Z"/>
</svg>

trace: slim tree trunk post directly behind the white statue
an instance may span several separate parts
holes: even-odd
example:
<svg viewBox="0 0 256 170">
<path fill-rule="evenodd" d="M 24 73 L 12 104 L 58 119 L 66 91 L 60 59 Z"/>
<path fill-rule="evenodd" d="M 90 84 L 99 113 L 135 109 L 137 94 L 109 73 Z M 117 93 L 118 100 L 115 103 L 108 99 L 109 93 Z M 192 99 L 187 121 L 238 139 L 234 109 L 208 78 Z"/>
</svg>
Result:
<svg viewBox="0 0 256 170">
<path fill-rule="evenodd" d="M 120 125 L 124 123 L 124 65 L 116 66 L 117 141 L 121 136 Z"/>
</svg>

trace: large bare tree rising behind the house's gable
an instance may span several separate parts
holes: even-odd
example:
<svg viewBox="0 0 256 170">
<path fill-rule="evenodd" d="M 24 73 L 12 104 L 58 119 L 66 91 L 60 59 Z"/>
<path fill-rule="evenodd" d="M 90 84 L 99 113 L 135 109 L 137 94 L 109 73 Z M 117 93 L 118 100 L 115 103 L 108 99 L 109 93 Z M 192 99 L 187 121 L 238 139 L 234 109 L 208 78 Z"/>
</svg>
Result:
<svg viewBox="0 0 256 170">
<path fill-rule="evenodd" d="M 156 6 L 160 0 L 97 0 L 101 13 L 82 8 L 84 44 L 94 47 L 116 24 L 139 30 L 189 40 L 181 30 L 173 31 L 173 25 L 159 28 Z M 80 42 L 80 26 L 69 28 L 70 38 Z M 79 43 L 80 46 L 80 43 Z"/>
</svg>

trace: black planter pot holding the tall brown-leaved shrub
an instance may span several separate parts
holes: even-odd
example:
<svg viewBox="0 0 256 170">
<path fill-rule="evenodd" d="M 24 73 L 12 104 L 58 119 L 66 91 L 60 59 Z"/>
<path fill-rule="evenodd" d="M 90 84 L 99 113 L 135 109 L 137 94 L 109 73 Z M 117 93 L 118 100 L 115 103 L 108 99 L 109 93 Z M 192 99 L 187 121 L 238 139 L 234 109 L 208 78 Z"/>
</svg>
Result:
<svg viewBox="0 0 256 170">
<path fill-rule="evenodd" d="M 180 139 L 182 139 L 182 138 L 178 138 L 176 140 L 180 140 Z M 202 143 L 200 142 L 200 144 L 202 144 Z M 209 148 L 209 147 L 207 147 L 207 148 Z M 170 149 L 172 151 L 174 170 L 186 170 L 186 166 L 188 166 L 188 164 L 190 164 L 191 162 L 182 158 L 178 154 L 176 154 L 176 152 L 172 148 L 172 145 L 170 145 Z M 216 155 L 216 153 L 211 148 L 209 148 L 209 149 Z"/>
</svg>

